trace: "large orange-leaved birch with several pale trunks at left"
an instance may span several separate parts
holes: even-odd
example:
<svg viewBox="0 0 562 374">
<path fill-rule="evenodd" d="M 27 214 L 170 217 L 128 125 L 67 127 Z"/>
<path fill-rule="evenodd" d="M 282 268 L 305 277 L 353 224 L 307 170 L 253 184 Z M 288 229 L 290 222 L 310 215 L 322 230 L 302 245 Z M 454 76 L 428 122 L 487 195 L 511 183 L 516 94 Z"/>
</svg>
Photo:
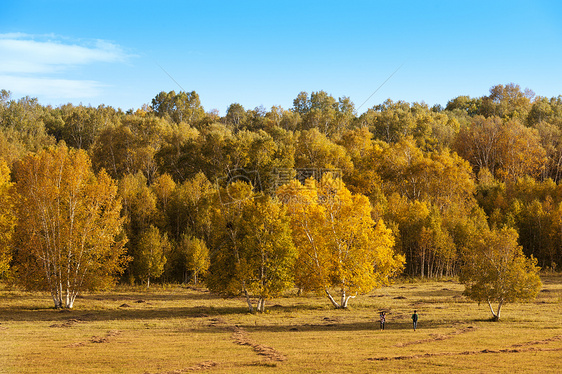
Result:
<svg viewBox="0 0 562 374">
<path fill-rule="evenodd" d="M 15 167 L 18 278 L 72 308 L 84 289 L 114 284 L 126 263 L 117 186 L 95 175 L 84 151 L 66 146 L 24 157 Z"/>
</svg>

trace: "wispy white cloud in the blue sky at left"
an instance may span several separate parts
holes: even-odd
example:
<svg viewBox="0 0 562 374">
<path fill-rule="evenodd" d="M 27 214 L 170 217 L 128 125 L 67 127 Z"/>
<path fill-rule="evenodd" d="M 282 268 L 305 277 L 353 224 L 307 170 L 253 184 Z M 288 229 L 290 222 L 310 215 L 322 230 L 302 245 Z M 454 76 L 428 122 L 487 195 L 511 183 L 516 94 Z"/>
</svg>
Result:
<svg viewBox="0 0 562 374">
<path fill-rule="evenodd" d="M 55 35 L 0 34 L 0 88 L 48 98 L 95 97 L 105 84 L 71 79 L 81 67 L 124 63 L 130 55 L 104 40 L 72 41 Z"/>
</svg>

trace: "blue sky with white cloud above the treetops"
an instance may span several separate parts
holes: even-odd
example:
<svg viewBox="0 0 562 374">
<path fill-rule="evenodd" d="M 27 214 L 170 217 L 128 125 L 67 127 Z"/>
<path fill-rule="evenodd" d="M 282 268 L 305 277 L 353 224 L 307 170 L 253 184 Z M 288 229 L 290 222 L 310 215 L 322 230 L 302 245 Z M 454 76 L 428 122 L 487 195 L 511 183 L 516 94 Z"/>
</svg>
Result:
<svg viewBox="0 0 562 374">
<path fill-rule="evenodd" d="M 562 2 L 9 1 L 0 12 L 0 88 L 53 106 L 126 110 L 195 90 L 224 114 L 324 90 L 357 108 L 394 72 L 359 113 L 510 82 L 558 96 Z"/>
</svg>

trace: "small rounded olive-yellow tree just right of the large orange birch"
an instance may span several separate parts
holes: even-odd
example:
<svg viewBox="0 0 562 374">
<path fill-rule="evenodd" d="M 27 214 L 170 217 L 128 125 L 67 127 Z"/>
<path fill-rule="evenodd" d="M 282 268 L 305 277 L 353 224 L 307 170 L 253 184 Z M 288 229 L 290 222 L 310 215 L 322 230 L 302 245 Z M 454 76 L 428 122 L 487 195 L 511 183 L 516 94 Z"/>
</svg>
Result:
<svg viewBox="0 0 562 374">
<path fill-rule="evenodd" d="M 166 254 L 170 252 L 170 242 L 167 234 L 160 234 L 160 230 L 153 225 L 141 234 L 137 249 L 137 273 L 150 287 L 150 279 L 158 278 L 164 272 Z"/>
</svg>

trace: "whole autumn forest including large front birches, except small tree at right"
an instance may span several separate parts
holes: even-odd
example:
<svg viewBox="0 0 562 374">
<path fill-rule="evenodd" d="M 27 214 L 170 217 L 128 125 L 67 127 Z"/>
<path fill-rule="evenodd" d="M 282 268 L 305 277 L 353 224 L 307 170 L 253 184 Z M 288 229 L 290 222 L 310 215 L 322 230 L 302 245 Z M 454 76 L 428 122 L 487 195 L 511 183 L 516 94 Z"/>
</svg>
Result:
<svg viewBox="0 0 562 374">
<path fill-rule="evenodd" d="M 290 285 L 329 286 L 345 307 L 397 274 L 456 276 L 476 242 L 498 235 L 556 271 L 561 178 L 562 95 L 513 83 L 445 107 L 387 100 L 358 114 L 318 91 L 288 109 L 233 103 L 223 117 L 195 91 L 124 112 L 2 90 L 0 277 L 47 289 L 46 268 L 92 289 L 115 274 L 147 287 L 205 282 L 245 294 L 250 309 L 258 295 L 258 310 Z M 57 245 L 72 271 L 46 260 Z M 339 257 L 312 261 L 322 246 Z M 75 295 L 50 289 L 72 306 Z"/>
</svg>

